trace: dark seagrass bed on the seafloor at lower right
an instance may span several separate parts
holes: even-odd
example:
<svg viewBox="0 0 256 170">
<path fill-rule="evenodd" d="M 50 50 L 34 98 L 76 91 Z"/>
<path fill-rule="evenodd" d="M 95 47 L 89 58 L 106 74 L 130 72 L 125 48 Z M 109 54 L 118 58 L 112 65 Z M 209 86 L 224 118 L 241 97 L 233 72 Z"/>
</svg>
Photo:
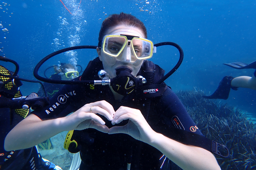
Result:
<svg viewBox="0 0 256 170">
<path fill-rule="evenodd" d="M 176 94 L 201 132 L 229 149 L 228 158 L 215 155 L 222 170 L 256 170 L 256 125 L 243 112 L 203 98 L 202 91 Z"/>
</svg>

